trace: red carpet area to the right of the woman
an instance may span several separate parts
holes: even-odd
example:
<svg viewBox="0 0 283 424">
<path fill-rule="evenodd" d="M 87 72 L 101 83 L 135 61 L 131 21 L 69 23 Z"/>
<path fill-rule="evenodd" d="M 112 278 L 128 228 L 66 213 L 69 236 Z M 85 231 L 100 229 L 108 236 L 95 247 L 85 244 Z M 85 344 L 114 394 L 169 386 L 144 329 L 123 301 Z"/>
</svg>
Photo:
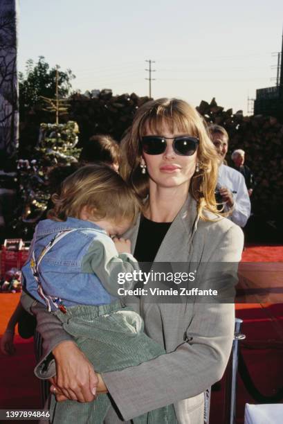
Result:
<svg viewBox="0 0 283 424">
<path fill-rule="evenodd" d="M 282 262 L 283 246 L 251 246 L 244 250 L 242 262 Z M 278 299 L 278 298 L 277 298 Z M 277 301 L 276 299 L 276 301 Z M 264 396 L 272 396 L 283 387 L 283 304 L 239 303 L 236 317 L 243 319 L 241 353 L 255 387 Z M 226 424 L 226 376 L 219 391 L 212 392 L 210 424 Z M 283 402 L 283 400 L 281 400 Z M 257 403 L 248 393 L 243 380 L 237 378 L 237 424 L 244 423 L 246 403 Z"/>
</svg>

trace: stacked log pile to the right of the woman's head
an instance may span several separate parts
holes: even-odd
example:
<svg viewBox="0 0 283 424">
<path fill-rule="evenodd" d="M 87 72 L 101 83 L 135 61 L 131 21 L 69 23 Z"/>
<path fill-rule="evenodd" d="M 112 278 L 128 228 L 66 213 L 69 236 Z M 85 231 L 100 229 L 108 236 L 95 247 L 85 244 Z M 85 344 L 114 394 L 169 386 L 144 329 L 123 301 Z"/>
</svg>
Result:
<svg viewBox="0 0 283 424">
<path fill-rule="evenodd" d="M 197 110 L 207 123 L 226 128 L 230 141 L 227 154 L 235 149 L 246 152 L 246 165 L 253 170 L 257 186 L 253 193 L 253 211 L 266 218 L 279 218 L 283 207 L 283 125 L 272 116 L 243 116 L 232 109 L 224 110 L 213 98 L 201 101 Z"/>
</svg>

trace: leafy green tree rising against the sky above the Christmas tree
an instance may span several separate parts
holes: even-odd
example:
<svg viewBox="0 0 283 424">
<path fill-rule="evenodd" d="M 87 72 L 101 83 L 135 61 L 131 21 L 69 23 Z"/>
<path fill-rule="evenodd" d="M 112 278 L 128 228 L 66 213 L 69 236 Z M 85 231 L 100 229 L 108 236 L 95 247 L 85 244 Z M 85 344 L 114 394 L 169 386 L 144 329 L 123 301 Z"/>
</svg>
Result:
<svg viewBox="0 0 283 424">
<path fill-rule="evenodd" d="M 58 71 L 58 94 L 66 98 L 71 94 L 71 80 L 75 76 L 71 69 Z M 33 107 L 41 103 L 40 96 L 54 98 L 56 93 L 56 67 L 50 68 L 44 56 L 34 64 L 29 59 L 26 62 L 26 72 L 19 73 L 19 113 L 20 119 Z"/>
</svg>

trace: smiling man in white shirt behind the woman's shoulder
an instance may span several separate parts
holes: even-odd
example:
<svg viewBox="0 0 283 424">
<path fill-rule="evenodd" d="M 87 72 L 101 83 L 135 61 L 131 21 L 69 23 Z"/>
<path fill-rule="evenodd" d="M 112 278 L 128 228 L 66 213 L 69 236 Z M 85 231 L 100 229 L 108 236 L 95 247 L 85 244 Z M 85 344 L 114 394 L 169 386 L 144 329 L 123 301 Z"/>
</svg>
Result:
<svg viewBox="0 0 283 424">
<path fill-rule="evenodd" d="M 239 227 L 244 227 L 250 216 L 250 198 L 243 175 L 223 164 L 228 151 L 228 133 L 220 125 L 210 125 L 208 130 L 219 154 L 217 191 L 225 202 L 224 211 L 232 211 L 230 220 Z"/>
</svg>

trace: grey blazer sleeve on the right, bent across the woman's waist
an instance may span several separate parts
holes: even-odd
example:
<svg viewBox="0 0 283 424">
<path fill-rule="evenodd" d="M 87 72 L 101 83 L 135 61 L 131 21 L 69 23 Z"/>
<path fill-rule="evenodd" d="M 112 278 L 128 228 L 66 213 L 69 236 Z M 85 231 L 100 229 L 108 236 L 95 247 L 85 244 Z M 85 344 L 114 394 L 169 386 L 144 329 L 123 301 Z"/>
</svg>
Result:
<svg viewBox="0 0 283 424">
<path fill-rule="evenodd" d="M 238 262 L 243 244 L 241 229 L 232 224 L 214 247 L 210 261 Z M 195 303 L 185 341 L 175 351 L 122 371 L 103 373 L 124 420 L 197 396 L 220 380 L 230 356 L 234 327 L 233 303 Z"/>
</svg>

